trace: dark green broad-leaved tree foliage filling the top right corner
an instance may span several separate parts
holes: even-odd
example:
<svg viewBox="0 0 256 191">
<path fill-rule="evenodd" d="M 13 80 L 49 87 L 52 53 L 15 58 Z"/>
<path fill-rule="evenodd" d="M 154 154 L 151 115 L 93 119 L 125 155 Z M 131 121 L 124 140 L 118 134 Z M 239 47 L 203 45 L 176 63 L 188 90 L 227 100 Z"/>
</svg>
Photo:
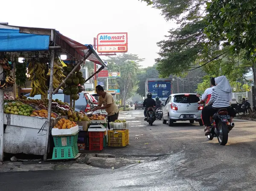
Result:
<svg viewBox="0 0 256 191">
<path fill-rule="evenodd" d="M 208 26 L 205 34 L 208 46 L 230 46 L 234 54 L 245 50 L 244 57 L 252 61 L 256 83 L 256 2 L 255 0 L 212 0 L 207 2 Z"/>
</svg>

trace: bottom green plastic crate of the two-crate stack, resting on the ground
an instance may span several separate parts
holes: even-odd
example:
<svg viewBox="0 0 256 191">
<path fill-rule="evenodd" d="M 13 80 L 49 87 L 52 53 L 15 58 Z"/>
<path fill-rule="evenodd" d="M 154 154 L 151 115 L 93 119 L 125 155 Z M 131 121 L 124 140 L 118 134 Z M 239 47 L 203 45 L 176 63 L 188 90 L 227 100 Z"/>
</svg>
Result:
<svg viewBox="0 0 256 191">
<path fill-rule="evenodd" d="M 78 145 L 72 147 L 54 147 L 52 160 L 73 159 L 79 153 Z"/>
</svg>

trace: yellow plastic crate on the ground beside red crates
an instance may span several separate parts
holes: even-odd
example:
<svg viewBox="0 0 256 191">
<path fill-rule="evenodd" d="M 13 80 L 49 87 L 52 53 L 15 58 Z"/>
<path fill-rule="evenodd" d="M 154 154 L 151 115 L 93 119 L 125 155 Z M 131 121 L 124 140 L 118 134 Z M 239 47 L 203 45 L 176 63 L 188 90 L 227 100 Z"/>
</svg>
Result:
<svg viewBox="0 0 256 191">
<path fill-rule="evenodd" d="M 129 130 L 108 131 L 109 147 L 125 147 L 129 144 Z"/>
</svg>

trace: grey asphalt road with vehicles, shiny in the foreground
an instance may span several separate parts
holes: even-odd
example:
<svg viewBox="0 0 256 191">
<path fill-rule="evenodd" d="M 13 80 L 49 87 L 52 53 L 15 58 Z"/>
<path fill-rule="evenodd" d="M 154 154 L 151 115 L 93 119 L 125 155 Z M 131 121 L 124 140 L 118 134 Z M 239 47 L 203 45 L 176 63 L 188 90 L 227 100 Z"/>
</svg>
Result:
<svg viewBox="0 0 256 191">
<path fill-rule="evenodd" d="M 129 145 L 101 153 L 154 160 L 115 169 L 5 172 L 0 174 L 0 191 L 256 190 L 255 122 L 236 120 L 222 146 L 217 138 L 207 140 L 198 123 L 169 127 L 155 121 L 149 126 L 142 121 L 143 110 L 121 117 L 131 121 Z"/>
</svg>

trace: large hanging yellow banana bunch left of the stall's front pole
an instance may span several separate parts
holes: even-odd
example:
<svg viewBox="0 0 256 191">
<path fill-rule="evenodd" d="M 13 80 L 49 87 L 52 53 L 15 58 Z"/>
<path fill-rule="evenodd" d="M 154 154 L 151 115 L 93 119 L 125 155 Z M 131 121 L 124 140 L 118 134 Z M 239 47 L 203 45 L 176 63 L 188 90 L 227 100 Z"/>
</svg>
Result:
<svg viewBox="0 0 256 191">
<path fill-rule="evenodd" d="M 31 81 L 30 97 L 34 97 L 36 94 L 46 95 L 45 91 L 48 90 L 46 86 L 47 79 L 45 78 L 46 66 L 43 63 L 31 61 L 28 66 L 29 81 Z"/>
</svg>

